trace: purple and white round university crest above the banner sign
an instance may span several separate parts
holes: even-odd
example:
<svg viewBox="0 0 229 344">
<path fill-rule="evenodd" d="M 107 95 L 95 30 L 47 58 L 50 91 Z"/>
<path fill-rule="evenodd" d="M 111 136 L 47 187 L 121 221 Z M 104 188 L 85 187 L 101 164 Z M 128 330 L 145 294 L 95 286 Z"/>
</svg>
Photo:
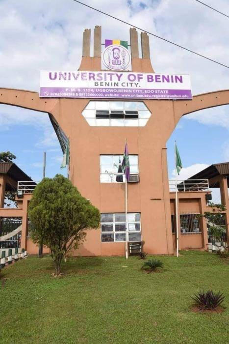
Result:
<svg viewBox="0 0 229 344">
<path fill-rule="evenodd" d="M 131 56 L 128 51 L 127 41 L 105 39 L 102 69 L 131 70 Z"/>
</svg>

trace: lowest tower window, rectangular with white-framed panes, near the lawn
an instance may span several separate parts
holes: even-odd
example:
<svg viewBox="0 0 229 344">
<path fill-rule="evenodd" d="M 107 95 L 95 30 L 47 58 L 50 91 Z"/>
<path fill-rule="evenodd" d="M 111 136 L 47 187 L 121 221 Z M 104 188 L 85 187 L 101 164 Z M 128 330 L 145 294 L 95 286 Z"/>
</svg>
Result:
<svg viewBox="0 0 229 344">
<path fill-rule="evenodd" d="M 101 241 L 126 241 L 126 214 L 101 214 Z M 140 213 L 127 214 L 127 241 L 141 241 Z"/>
</svg>

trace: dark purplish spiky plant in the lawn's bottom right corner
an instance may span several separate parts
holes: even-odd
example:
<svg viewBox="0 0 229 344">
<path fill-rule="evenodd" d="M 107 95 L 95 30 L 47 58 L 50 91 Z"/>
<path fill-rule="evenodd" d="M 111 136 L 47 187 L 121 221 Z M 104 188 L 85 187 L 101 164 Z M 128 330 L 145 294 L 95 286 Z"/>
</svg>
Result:
<svg viewBox="0 0 229 344">
<path fill-rule="evenodd" d="M 199 291 L 192 297 L 199 307 L 199 310 L 211 310 L 214 311 L 216 307 L 220 306 L 225 299 L 222 293 L 214 293 L 212 290 Z"/>
</svg>

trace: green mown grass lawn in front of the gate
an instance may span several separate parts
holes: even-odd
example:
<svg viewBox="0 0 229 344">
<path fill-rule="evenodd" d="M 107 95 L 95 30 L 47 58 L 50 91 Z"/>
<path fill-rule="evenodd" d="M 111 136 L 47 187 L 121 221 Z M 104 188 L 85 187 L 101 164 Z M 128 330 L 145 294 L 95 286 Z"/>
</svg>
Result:
<svg viewBox="0 0 229 344">
<path fill-rule="evenodd" d="M 72 258 L 59 278 L 50 257 L 1 270 L 0 343 L 228 343 L 229 264 L 194 251 L 160 259 L 158 274 L 138 257 Z M 192 312 L 200 289 L 223 292 L 225 311 Z"/>
</svg>

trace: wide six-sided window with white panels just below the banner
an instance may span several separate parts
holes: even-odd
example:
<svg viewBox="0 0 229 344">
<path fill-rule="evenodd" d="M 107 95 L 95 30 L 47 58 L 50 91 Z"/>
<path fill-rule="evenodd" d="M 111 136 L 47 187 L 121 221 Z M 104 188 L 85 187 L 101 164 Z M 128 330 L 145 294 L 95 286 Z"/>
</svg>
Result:
<svg viewBox="0 0 229 344">
<path fill-rule="evenodd" d="M 91 126 L 143 127 L 151 112 L 144 102 L 90 101 L 82 115 Z"/>
</svg>

